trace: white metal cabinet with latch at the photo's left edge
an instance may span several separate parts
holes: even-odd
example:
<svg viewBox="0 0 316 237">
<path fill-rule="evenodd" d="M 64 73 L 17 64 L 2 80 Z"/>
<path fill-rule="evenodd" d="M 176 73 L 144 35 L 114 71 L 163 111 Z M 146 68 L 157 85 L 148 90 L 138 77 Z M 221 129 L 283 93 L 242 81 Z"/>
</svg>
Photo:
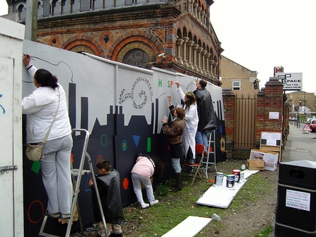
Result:
<svg viewBox="0 0 316 237">
<path fill-rule="evenodd" d="M 25 26 L 0 17 L 0 236 L 23 236 L 22 49 Z"/>
</svg>

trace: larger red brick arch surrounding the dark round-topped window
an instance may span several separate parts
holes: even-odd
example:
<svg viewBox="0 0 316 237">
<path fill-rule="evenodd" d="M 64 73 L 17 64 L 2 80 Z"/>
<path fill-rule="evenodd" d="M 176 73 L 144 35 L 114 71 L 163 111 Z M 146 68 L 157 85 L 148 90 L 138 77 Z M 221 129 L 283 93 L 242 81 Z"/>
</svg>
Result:
<svg viewBox="0 0 316 237">
<path fill-rule="evenodd" d="M 119 37 L 117 40 L 115 40 L 115 42 L 113 42 L 113 44 L 111 45 L 106 58 L 111 59 L 112 61 L 117 61 L 119 52 L 124 46 L 128 45 L 131 42 L 141 42 L 139 44 L 139 49 L 147 52 L 148 50 L 146 50 L 143 45 L 148 45 L 148 47 L 151 47 L 153 53 L 156 55 L 165 52 L 162 43 L 157 37 L 144 30 L 136 30 L 125 33 L 124 35 L 121 35 L 121 37 Z"/>
</svg>

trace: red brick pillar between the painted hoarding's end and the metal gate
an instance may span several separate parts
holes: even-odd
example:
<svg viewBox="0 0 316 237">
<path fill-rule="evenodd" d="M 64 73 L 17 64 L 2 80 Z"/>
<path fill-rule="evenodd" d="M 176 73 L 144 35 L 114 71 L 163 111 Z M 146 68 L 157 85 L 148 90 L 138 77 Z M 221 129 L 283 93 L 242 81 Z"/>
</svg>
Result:
<svg viewBox="0 0 316 237">
<path fill-rule="evenodd" d="M 232 158 L 235 125 L 235 94 L 230 88 L 223 88 L 223 104 L 225 108 L 226 158 Z"/>
</svg>

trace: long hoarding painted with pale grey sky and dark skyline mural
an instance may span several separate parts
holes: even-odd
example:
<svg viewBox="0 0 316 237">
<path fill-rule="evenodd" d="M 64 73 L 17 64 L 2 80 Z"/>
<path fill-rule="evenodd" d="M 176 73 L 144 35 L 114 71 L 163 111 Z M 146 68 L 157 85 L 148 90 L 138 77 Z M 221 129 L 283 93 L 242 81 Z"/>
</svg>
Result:
<svg viewBox="0 0 316 237">
<path fill-rule="evenodd" d="M 195 78 L 156 68 L 139 69 L 90 54 L 78 54 L 27 40 L 24 42 L 23 52 L 33 57 L 31 63 L 37 69 L 48 69 L 59 79 L 69 98 L 71 127 L 87 129 L 90 133 L 88 154 L 93 166 L 98 161 L 107 159 L 112 163 L 112 168 L 119 171 L 124 206 L 136 202 L 130 172 L 137 154 L 157 156 L 165 163 L 163 177 L 153 180 L 154 185 L 173 177 L 168 142 L 161 130 L 160 121 L 163 115 L 169 115 L 167 96 L 172 96 L 173 103 L 181 103 L 175 91 L 175 82 L 180 82 L 183 91 L 194 91 Z M 35 86 L 25 69 L 23 81 L 23 96 L 27 96 Z M 216 158 L 217 161 L 225 161 L 221 88 L 211 83 L 206 88 L 211 92 L 216 111 L 216 146 L 220 148 Z M 25 137 L 25 125 L 23 132 Z M 73 136 L 74 168 L 78 168 L 82 155 L 83 135 Z M 25 140 L 23 144 L 25 145 Z M 30 217 L 25 221 L 29 226 L 28 233 L 35 233 L 40 228 L 42 207 L 46 208 L 47 197 L 42 186 L 39 163 L 33 163 L 24 157 L 24 170 L 25 209 L 30 209 Z M 95 173 L 96 171 L 95 168 Z M 88 180 L 89 175 L 82 178 L 79 195 L 81 212 L 84 213 L 83 224 L 93 222 Z M 49 226 L 51 231 L 56 231 L 57 226 Z M 78 229 L 78 224 L 74 224 L 73 229 Z"/>
</svg>

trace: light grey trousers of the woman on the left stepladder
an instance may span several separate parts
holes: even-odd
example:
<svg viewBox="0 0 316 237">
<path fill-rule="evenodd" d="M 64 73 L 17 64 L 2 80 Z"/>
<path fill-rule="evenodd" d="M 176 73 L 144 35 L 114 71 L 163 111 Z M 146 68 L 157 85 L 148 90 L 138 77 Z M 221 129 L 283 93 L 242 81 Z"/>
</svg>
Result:
<svg viewBox="0 0 316 237">
<path fill-rule="evenodd" d="M 70 214 L 72 202 L 71 148 L 72 137 L 47 141 L 45 157 L 40 159 L 42 180 L 48 196 L 48 212 Z"/>
</svg>

